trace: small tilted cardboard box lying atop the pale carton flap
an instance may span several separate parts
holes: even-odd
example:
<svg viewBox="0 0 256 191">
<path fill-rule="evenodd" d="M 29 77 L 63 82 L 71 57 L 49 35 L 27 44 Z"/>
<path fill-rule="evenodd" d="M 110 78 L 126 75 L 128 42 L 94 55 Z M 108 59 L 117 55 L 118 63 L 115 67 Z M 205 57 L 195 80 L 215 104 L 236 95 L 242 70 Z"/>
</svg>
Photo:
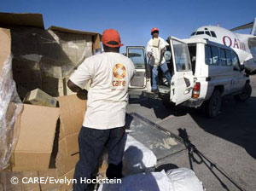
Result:
<svg viewBox="0 0 256 191">
<path fill-rule="evenodd" d="M 56 107 L 57 100 L 40 89 L 32 90 L 24 99 L 25 103 L 38 106 Z"/>
</svg>

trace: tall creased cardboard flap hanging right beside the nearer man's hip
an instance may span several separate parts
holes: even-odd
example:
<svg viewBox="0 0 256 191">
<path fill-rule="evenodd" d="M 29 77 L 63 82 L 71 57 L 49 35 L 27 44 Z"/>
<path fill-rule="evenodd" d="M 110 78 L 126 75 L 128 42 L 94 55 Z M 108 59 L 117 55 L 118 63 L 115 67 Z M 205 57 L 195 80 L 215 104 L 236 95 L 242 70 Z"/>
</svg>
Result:
<svg viewBox="0 0 256 191">
<path fill-rule="evenodd" d="M 56 157 L 59 177 L 72 171 L 79 160 L 79 130 L 84 121 L 86 102 L 76 95 L 61 96 L 60 102 L 60 138 Z"/>
</svg>

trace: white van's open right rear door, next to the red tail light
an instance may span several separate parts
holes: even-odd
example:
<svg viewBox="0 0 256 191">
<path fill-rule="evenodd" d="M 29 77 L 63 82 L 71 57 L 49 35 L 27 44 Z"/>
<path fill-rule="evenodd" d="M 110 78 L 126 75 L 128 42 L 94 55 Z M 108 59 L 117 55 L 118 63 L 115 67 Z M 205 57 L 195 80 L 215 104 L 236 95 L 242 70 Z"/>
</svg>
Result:
<svg viewBox="0 0 256 191">
<path fill-rule="evenodd" d="M 167 41 L 172 49 L 173 64 L 170 101 L 177 105 L 192 97 L 194 76 L 187 43 L 173 37 L 168 38 Z"/>
</svg>

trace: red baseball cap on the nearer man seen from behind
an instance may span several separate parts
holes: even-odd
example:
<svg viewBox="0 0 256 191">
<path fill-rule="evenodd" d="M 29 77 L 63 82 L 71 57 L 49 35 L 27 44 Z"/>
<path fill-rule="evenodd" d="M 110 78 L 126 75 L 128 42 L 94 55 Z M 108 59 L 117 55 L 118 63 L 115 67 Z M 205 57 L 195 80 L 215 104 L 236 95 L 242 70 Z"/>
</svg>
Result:
<svg viewBox="0 0 256 191">
<path fill-rule="evenodd" d="M 116 48 L 123 46 L 119 36 L 119 32 L 114 29 L 107 29 L 102 34 L 102 43 L 108 47 Z"/>
</svg>

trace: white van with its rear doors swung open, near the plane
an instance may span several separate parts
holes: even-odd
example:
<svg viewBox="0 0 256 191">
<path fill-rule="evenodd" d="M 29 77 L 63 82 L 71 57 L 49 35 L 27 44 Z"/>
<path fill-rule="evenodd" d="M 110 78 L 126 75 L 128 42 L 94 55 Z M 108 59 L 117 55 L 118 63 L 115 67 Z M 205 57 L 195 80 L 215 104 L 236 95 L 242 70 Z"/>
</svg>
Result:
<svg viewBox="0 0 256 191">
<path fill-rule="evenodd" d="M 137 73 L 130 90 L 143 90 L 146 96 L 161 99 L 166 106 L 183 104 L 205 108 L 207 116 L 219 113 L 221 96 L 234 95 L 246 101 L 252 87 L 235 51 L 204 39 L 166 40 L 165 58 L 172 73 L 171 85 L 159 73 L 159 94 L 151 93 L 151 70 L 144 47 L 127 47 L 126 55 L 135 64 Z"/>
</svg>

